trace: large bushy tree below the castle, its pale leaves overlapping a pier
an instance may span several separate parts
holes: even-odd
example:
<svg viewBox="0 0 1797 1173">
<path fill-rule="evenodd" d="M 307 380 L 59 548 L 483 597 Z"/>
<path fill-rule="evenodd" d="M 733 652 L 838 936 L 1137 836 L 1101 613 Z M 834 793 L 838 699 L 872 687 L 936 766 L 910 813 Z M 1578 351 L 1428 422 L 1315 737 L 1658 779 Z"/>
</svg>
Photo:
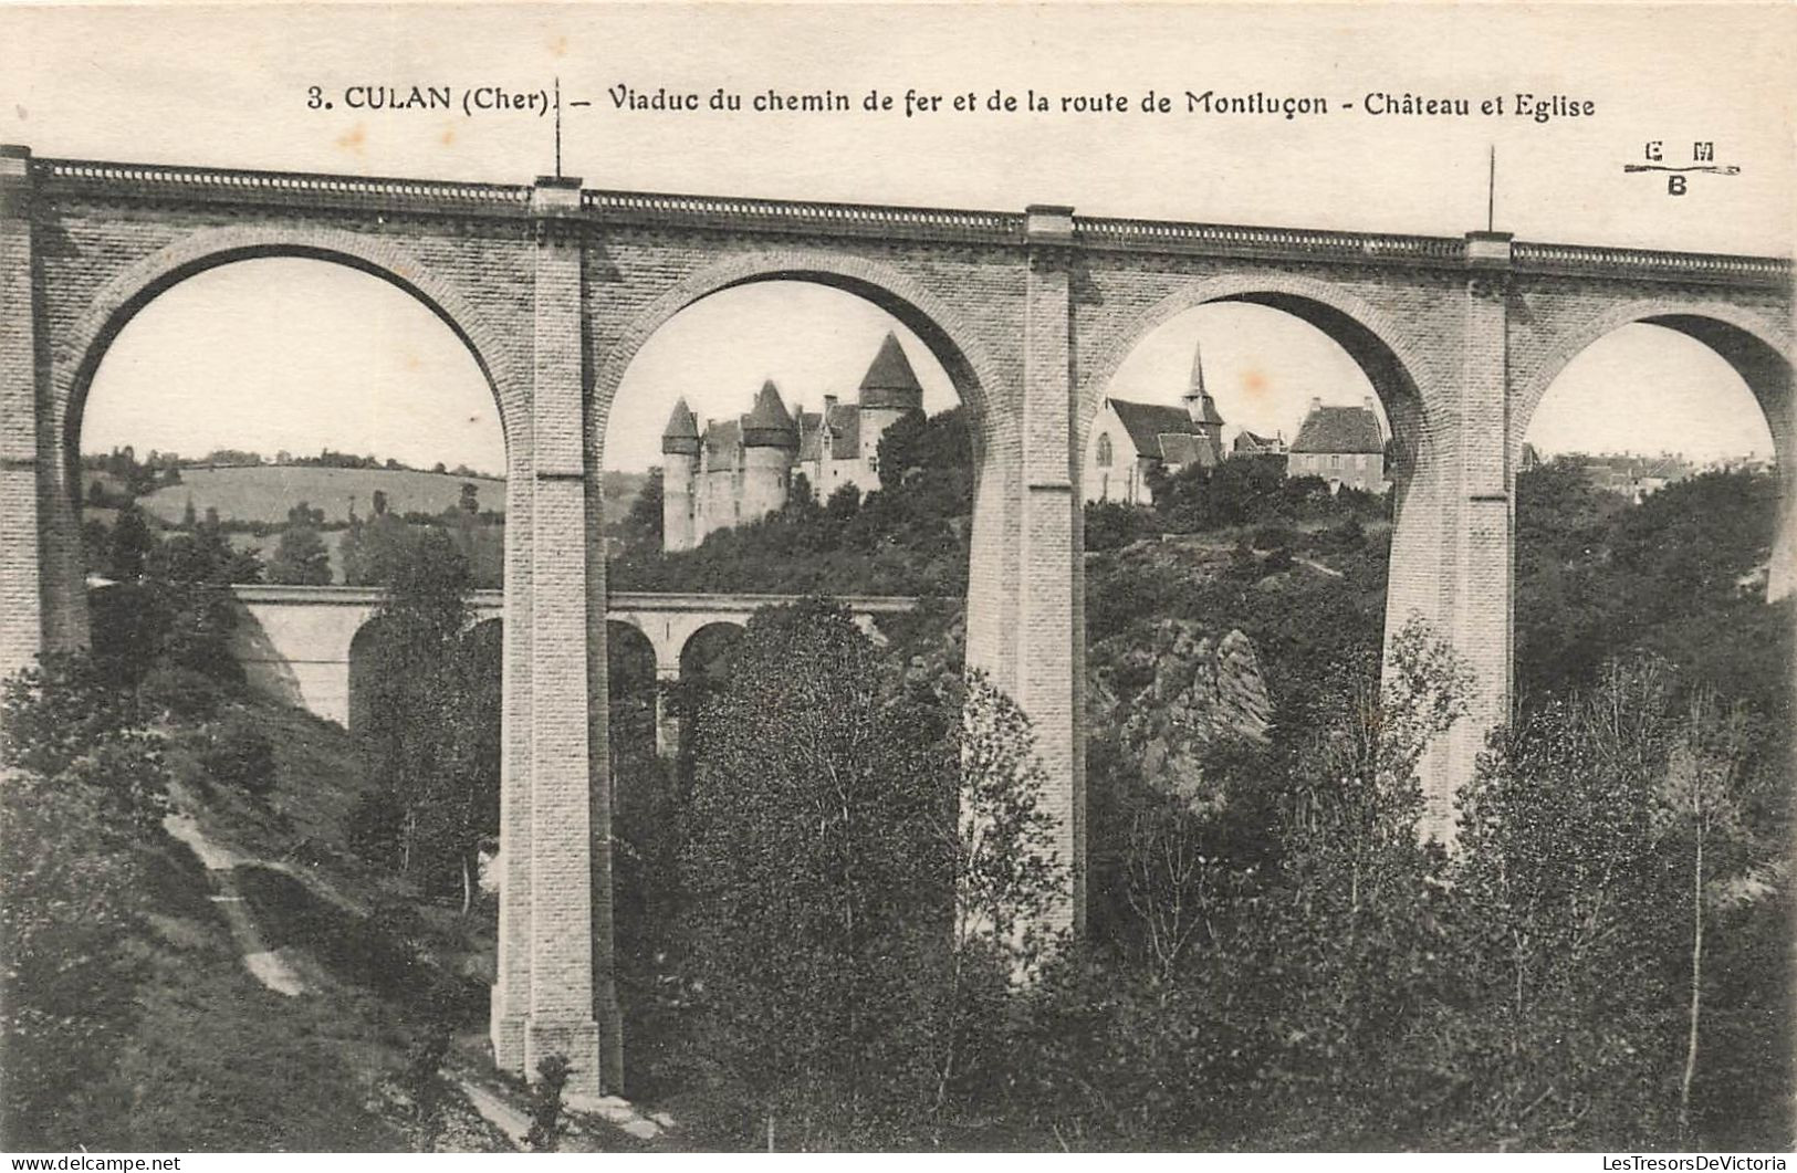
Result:
<svg viewBox="0 0 1797 1173">
<path fill-rule="evenodd" d="M 694 1051 L 805 1144 L 890 1139 L 990 1065 L 969 999 L 1005 990 L 1051 860 L 1021 715 L 979 683 L 969 701 L 963 728 L 958 695 L 900 686 L 810 602 L 751 620 L 699 715 Z"/>
</svg>

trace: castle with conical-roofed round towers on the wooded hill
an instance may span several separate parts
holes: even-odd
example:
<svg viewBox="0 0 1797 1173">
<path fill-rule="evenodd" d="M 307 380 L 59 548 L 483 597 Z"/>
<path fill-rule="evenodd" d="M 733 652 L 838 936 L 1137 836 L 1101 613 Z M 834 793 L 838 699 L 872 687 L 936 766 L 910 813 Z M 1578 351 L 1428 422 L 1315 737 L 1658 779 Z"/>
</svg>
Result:
<svg viewBox="0 0 1797 1173">
<path fill-rule="evenodd" d="M 794 472 L 819 501 L 843 485 L 879 489 L 881 437 L 922 410 L 924 388 L 893 334 L 861 379 L 857 402 L 825 395 L 823 411 L 794 417 L 769 379 L 748 415 L 706 420 L 701 433 L 681 399 L 661 433 L 661 548 L 692 550 L 713 530 L 766 517 L 787 503 Z"/>
</svg>

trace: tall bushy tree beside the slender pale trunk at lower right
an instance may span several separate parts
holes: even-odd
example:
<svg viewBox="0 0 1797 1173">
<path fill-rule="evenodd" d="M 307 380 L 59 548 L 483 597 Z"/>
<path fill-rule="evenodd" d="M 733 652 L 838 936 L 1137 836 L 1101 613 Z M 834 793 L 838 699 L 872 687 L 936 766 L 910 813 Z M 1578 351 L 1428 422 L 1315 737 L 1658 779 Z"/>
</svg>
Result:
<svg viewBox="0 0 1797 1173">
<path fill-rule="evenodd" d="M 1452 1065 L 1475 1135 L 1601 1148 L 1677 1133 L 1680 945 L 1664 911 L 1689 907 L 1689 889 L 1655 814 L 1669 684 L 1664 665 L 1612 665 L 1511 729 L 1463 794 L 1456 968 L 1490 1062 Z"/>
</svg>

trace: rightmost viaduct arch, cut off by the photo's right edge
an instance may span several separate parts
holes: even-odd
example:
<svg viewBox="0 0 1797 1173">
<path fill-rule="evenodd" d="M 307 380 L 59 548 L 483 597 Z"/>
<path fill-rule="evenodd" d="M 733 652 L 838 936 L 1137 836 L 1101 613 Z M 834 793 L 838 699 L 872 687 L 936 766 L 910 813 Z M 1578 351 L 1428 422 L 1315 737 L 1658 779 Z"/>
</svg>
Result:
<svg viewBox="0 0 1797 1173">
<path fill-rule="evenodd" d="M 1766 417 L 1779 476 L 1790 483 L 1792 472 L 1788 469 L 1797 458 L 1797 453 L 1792 451 L 1792 442 L 1797 438 L 1792 401 L 1793 340 L 1783 325 L 1729 302 L 1673 302 L 1664 298 L 1621 302 L 1608 305 L 1578 329 L 1563 332 L 1553 347 L 1535 357 L 1522 381 L 1511 390 L 1509 465 L 1517 467 L 1535 411 L 1567 365 L 1599 338 L 1635 323 L 1659 325 L 1693 338 L 1714 350 L 1741 375 Z"/>
</svg>

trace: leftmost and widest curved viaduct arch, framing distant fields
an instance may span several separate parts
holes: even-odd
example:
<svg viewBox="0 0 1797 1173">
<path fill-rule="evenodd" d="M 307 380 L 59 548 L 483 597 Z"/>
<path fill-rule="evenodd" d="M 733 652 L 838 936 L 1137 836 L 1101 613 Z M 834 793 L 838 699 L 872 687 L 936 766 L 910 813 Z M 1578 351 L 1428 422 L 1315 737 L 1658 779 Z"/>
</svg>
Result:
<svg viewBox="0 0 1797 1173">
<path fill-rule="evenodd" d="M 61 458 L 81 442 L 81 419 L 88 386 L 111 341 L 140 309 L 189 277 L 235 260 L 295 257 L 341 264 L 377 277 L 417 298 L 462 340 L 480 366 L 500 411 L 500 429 L 510 445 L 516 413 L 523 404 L 510 393 L 516 372 L 500 332 L 446 277 L 433 271 L 399 243 L 341 228 L 289 228 L 243 225 L 203 228 L 117 271 L 93 295 L 88 311 L 52 345 L 56 408 L 61 411 L 58 438 Z M 66 472 L 72 476 L 74 467 Z"/>
</svg>

